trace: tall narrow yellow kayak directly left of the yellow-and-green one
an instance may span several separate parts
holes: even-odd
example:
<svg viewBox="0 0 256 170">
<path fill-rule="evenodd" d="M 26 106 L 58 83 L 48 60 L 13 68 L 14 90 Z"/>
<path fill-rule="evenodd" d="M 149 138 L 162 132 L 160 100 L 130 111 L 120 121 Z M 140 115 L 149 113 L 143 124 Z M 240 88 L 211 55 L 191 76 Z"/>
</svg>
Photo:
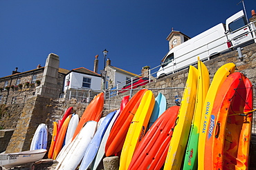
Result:
<svg viewBox="0 0 256 170">
<path fill-rule="evenodd" d="M 190 65 L 187 83 L 181 100 L 181 107 L 176 119 L 176 126 L 172 134 L 172 140 L 165 160 L 164 170 L 181 169 L 185 148 L 190 134 L 191 122 L 196 101 L 198 71 Z"/>
</svg>

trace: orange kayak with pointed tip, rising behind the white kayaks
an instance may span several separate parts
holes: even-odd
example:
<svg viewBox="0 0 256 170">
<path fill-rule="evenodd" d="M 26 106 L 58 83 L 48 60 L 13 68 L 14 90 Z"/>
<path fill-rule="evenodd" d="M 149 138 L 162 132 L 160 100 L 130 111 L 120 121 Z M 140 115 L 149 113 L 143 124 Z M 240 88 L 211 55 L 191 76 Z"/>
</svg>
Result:
<svg viewBox="0 0 256 170">
<path fill-rule="evenodd" d="M 77 136 L 77 134 L 80 132 L 82 127 L 84 127 L 84 123 L 90 120 L 94 120 L 96 122 L 100 120 L 102 116 L 103 105 L 104 105 L 104 93 L 100 93 L 97 96 L 95 96 L 95 98 L 93 98 L 91 103 L 84 110 L 84 113 L 80 118 L 77 128 L 75 129 L 75 133 L 72 140 L 74 140 L 75 136 Z"/>
</svg>

